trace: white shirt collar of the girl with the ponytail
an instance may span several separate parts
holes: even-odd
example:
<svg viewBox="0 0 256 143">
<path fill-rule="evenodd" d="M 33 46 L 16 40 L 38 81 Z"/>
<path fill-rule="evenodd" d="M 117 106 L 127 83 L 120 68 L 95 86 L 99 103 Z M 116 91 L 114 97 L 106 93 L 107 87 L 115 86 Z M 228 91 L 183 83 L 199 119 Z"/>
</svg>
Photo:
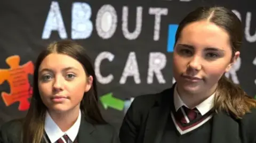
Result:
<svg viewBox="0 0 256 143">
<path fill-rule="evenodd" d="M 202 103 L 198 104 L 196 106 L 197 110 L 201 113 L 201 115 L 206 114 L 208 111 L 210 111 L 214 105 L 214 94 L 212 94 L 210 97 L 205 99 Z M 178 111 L 181 106 L 186 106 L 188 107 L 180 98 L 178 91 L 177 91 L 177 86 L 174 88 L 174 107 L 175 110 Z"/>
</svg>

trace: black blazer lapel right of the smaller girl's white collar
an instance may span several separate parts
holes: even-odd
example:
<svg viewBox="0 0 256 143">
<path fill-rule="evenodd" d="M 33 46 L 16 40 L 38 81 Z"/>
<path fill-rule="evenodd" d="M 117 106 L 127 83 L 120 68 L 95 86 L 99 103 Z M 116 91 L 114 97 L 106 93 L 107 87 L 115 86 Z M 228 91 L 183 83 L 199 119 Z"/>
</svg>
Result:
<svg viewBox="0 0 256 143">
<path fill-rule="evenodd" d="M 94 129 L 95 128 L 93 127 L 93 125 L 88 123 L 82 115 L 81 124 L 78 131 L 78 143 L 98 143 L 97 138 L 93 137 Z"/>
</svg>

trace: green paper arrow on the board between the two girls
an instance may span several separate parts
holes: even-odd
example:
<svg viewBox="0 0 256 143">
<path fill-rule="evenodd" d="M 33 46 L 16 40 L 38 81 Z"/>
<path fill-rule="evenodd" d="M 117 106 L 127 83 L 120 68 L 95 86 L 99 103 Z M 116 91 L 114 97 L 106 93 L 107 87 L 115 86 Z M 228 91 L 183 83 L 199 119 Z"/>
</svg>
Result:
<svg viewBox="0 0 256 143">
<path fill-rule="evenodd" d="M 100 97 L 100 101 L 105 109 L 108 107 L 114 108 L 115 110 L 122 111 L 124 108 L 124 101 L 113 97 L 112 93 L 105 94 Z"/>
</svg>

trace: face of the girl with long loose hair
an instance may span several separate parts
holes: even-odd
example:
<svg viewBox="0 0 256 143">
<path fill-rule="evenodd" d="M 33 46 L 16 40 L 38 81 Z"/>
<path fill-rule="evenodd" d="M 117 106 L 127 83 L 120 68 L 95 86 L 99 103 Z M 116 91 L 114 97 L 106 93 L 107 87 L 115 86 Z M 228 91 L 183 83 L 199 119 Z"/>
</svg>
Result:
<svg viewBox="0 0 256 143">
<path fill-rule="evenodd" d="M 92 77 L 87 77 L 83 65 L 64 54 L 50 54 L 38 70 L 38 89 L 49 111 L 79 110 L 84 92 L 91 88 Z"/>
</svg>

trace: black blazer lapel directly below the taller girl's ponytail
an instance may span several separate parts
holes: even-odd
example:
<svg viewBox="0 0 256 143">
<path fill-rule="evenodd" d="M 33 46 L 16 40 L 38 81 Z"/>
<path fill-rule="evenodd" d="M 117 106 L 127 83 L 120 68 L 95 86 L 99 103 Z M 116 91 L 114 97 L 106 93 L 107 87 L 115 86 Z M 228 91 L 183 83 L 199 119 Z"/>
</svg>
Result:
<svg viewBox="0 0 256 143">
<path fill-rule="evenodd" d="M 211 143 L 239 143 L 241 141 L 239 120 L 234 120 L 225 112 L 215 113 L 212 124 Z"/>
</svg>

